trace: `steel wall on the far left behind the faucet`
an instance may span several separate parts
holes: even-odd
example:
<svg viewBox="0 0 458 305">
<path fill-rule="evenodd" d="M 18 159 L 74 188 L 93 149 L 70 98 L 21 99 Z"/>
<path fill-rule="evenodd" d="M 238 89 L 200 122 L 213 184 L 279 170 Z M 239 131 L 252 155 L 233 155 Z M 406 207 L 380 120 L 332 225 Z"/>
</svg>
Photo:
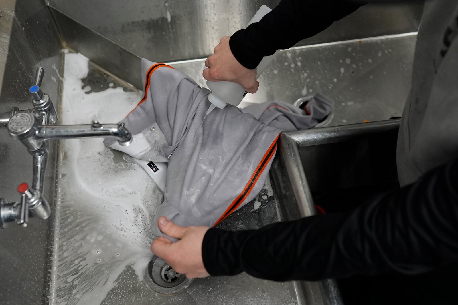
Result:
<svg viewBox="0 0 458 305">
<path fill-rule="evenodd" d="M 32 108 L 28 88 L 35 69 L 46 71 L 42 89 L 58 100 L 61 68 L 60 40 L 44 1 L 0 1 L 0 112 L 16 106 Z M 13 13 L 14 11 L 14 13 Z M 4 18 L 5 20 L 2 20 Z M 7 50 L 7 52 L 6 52 Z M 59 72 L 60 73 L 60 72 Z M 55 150 L 54 150 L 55 151 Z M 45 194 L 53 203 L 53 154 L 50 154 Z M 0 128 L 0 197 L 19 200 L 16 187 L 32 182 L 32 157 L 6 128 Z M 51 220 L 31 219 L 26 228 L 11 223 L 0 232 L 0 304 L 44 304 L 47 299 L 45 270 Z"/>
</svg>

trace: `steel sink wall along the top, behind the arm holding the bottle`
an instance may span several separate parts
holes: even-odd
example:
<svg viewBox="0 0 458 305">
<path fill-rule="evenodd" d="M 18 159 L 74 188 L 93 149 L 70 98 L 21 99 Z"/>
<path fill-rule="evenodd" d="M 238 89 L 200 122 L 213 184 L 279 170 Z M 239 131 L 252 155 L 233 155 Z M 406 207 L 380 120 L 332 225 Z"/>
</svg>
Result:
<svg viewBox="0 0 458 305">
<path fill-rule="evenodd" d="M 203 58 L 213 54 L 219 39 L 245 27 L 261 5 L 273 8 L 278 2 L 49 0 L 49 4 L 57 10 L 121 47 L 140 57 L 160 62 Z M 365 5 L 298 45 L 415 32 L 421 11 L 421 3 Z"/>
</svg>

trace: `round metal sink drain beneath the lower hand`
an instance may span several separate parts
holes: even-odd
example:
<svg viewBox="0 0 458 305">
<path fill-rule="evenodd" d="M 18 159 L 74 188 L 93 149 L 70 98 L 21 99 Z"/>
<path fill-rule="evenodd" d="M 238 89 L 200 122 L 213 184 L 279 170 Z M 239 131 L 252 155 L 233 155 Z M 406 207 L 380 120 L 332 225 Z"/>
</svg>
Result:
<svg viewBox="0 0 458 305">
<path fill-rule="evenodd" d="M 177 273 L 174 268 L 157 256 L 153 256 L 149 262 L 144 278 L 151 289 L 162 294 L 178 293 L 192 282 L 192 279 Z"/>
</svg>

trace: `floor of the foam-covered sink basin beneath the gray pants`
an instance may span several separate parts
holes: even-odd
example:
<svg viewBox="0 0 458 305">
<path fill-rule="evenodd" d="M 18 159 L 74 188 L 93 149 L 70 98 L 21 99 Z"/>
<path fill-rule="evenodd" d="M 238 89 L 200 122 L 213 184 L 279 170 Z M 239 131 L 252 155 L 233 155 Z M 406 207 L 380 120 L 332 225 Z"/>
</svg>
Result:
<svg viewBox="0 0 458 305">
<path fill-rule="evenodd" d="M 60 116 L 64 124 L 94 119 L 118 122 L 142 98 L 141 91 L 100 70 L 81 54 L 65 54 L 64 67 Z M 150 263 L 149 250 L 155 238 L 149 228 L 162 193 L 140 166 L 105 148 L 102 141 L 60 142 L 51 304 L 209 304 L 214 299 L 237 303 L 242 298 L 256 304 L 298 303 L 292 283 L 247 274 L 192 282 L 176 277 L 177 285 L 167 282 L 170 273 L 164 278 L 164 272 L 169 269 Z M 252 203 L 220 227 L 259 228 L 278 221 L 276 207 L 267 184 Z M 163 287 L 152 285 L 148 277 Z M 238 292 L 235 297 L 229 293 L 233 289 Z"/>
</svg>

